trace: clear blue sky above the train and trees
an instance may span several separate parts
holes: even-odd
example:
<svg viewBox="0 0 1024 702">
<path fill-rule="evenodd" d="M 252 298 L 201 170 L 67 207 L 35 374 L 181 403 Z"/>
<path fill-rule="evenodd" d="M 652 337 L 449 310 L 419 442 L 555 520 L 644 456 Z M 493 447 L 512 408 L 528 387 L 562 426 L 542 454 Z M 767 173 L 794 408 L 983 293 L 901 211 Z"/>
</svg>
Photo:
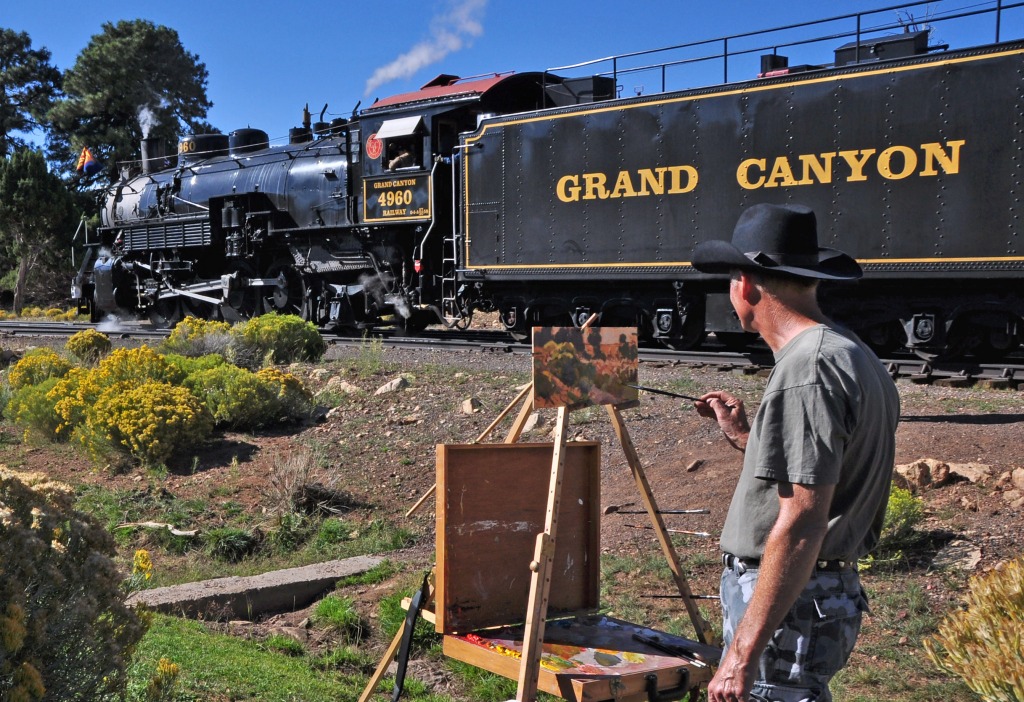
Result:
<svg viewBox="0 0 1024 702">
<path fill-rule="evenodd" d="M 209 71 L 211 124 L 224 132 L 257 127 L 274 138 L 298 125 L 305 103 L 314 119 L 325 103 L 328 119 L 347 116 L 359 100 L 367 106 L 375 97 L 416 89 L 439 73 L 467 77 L 539 71 L 895 4 L 893 0 L 0 0 L 0 27 L 27 32 L 33 46 L 51 51 L 59 69 L 74 64 L 104 21 L 141 17 L 170 27 Z M 943 0 L 912 12 L 926 18 L 945 9 L 993 4 Z M 866 23 L 895 19 L 894 12 L 886 12 Z M 849 20 L 825 31 L 853 27 Z M 956 31 L 947 27 L 940 24 L 937 37 L 953 46 L 994 38 L 992 19 Z M 1022 36 L 1024 10 L 1018 9 L 1004 18 L 1002 38 Z M 791 62 L 828 62 L 838 43 L 842 42 L 794 49 Z M 742 42 L 733 44 L 740 46 Z M 751 77 L 757 72 L 756 55 L 745 64 L 734 61 L 729 71 L 730 79 Z M 713 82 L 721 73 L 717 63 L 689 82 Z M 658 81 L 657 76 L 645 74 L 620 84 L 624 93 L 633 94 L 655 91 Z"/>
</svg>

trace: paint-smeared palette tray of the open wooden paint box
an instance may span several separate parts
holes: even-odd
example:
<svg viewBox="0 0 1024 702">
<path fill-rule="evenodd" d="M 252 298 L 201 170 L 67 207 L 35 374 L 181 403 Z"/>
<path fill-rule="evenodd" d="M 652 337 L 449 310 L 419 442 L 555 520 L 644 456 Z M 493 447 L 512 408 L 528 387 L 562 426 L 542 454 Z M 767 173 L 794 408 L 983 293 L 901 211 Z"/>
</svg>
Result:
<svg viewBox="0 0 1024 702">
<path fill-rule="evenodd" d="M 641 702 L 648 699 L 648 674 L 657 676 L 657 689 L 663 693 L 682 685 L 687 675 L 690 688 L 711 679 L 710 666 L 663 653 L 635 640 L 635 633 L 668 637 L 600 615 L 549 621 L 538 689 L 579 702 Z M 449 634 L 444 637 L 444 654 L 514 679 L 519 671 L 522 635 L 521 626 Z"/>
</svg>

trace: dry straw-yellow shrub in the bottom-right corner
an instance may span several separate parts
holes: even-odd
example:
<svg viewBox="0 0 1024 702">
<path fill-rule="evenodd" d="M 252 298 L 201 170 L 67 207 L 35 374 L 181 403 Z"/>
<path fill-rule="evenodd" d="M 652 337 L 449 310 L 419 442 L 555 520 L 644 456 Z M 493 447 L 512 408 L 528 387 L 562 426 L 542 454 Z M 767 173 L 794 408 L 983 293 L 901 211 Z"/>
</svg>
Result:
<svg viewBox="0 0 1024 702">
<path fill-rule="evenodd" d="M 925 639 L 928 657 L 983 700 L 1024 700 L 1024 557 L 972 577 L 966 604 Z"/>
</svg>

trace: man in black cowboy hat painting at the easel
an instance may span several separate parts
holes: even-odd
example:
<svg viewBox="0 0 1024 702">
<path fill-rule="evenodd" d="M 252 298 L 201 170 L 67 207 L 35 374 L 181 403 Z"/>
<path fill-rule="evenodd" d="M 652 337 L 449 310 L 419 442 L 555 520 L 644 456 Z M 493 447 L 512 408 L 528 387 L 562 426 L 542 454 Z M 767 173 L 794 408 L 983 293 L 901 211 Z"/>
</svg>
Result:
<svg viewBox="0 0 1024 702">
<path fill-rule="evenodd" d="M 818 307 L 820 280 L 859 278 L 860 266 L 818 246 L 810 209 L 778 205 L 745 210 L 732 242 L 699 245 L 693 266 L 730 274 L 742 327 L 775 356 L 753 424 L 729 393 L 696 403 L 744 452 L 722 530 L 726 648 L 709 700 L 830 700 L 867 609 L 856 563 L 881 534 L 899 419 L 885 367 Z"/>
</svg>

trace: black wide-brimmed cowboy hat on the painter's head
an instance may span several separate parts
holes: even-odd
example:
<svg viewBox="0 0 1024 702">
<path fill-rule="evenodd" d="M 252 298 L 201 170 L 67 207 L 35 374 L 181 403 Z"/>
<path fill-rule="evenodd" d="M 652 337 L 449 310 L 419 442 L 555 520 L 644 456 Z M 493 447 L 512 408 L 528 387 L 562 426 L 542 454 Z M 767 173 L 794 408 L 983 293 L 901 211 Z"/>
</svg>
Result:
<svg viewBox="0 0 1024 702">
<path fill-rule="evenodd" d="M 863 271 L 852 257 L 818 246 L 814 212 L 802 205 L 754 205 L 739 216 L 732 242 L 697 245 L 693 267 L 706 273 L 733 269 L 805 278 L 853 280 Z"/>
</svg>

